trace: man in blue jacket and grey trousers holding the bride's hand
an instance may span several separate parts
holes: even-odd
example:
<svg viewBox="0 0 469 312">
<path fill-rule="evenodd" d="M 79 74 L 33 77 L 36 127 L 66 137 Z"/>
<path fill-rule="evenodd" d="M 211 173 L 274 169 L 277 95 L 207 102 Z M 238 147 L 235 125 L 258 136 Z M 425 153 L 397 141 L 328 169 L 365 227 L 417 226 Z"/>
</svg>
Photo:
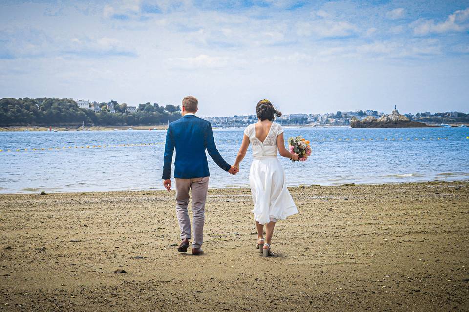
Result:
<svg viewBox="0 0 469 312">
<path fill-rule="evenodd" d="M 209 165 L 205 150 L 213 161 L 230 174 L 239 170 L 229 165 L 220 155 L 215 146 L 210 122 L 195 116 L 198 101 L 189 96 L 182 100 L 182 118 L 171 122 L 166 133 L 166 146 L 163 165 L 163 185 L 171 190 L 171 162 L 174 148 L 174 181 L 176 182 L 176 215 L 181 229 L 181 244 L 178 252 L 185 253 L 191 239 L 191 220 L 187 212 L 189 190 L 192 190 L 193 233 L 192 254 L 199 255 L 203 251 L 202 232 L 205 220 L 205 200 L 209 187 Z"/>
</svg>

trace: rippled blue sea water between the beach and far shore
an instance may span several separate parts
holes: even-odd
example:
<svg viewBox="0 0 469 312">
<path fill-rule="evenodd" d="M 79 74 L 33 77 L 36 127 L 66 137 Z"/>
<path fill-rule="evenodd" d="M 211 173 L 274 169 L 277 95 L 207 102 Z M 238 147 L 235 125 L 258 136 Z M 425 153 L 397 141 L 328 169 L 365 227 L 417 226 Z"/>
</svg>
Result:
<svg viewBox="0 0 469 312">
<path fill-rule="evenodd" d="M 213 134 L 232 164 L 243 129 Z M 285 141 L 298 135 L 313 153 L 295 163 L 278 156 L 288 186 L 469 179 L 469 128 L 285 128 Z M 165 137 L 165 130 L 0 132 L 0 193 L 163 189 Z M 249 186 L 251 153 L 236 176 L 208 157 L 210 187 Z"/>
</svg>

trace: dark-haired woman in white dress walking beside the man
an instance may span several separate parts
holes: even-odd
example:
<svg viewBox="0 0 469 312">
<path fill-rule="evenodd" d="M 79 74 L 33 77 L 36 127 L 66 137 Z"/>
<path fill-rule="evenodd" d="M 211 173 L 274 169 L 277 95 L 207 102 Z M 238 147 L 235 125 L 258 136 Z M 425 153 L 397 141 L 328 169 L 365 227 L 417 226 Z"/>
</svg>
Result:
<svg viewBox="0 0 469 312">
<path fill-rule="evenodd" d="M 277 159 L 277 150 L 280 156 L 298 160 L 298 154 L 290 153 L 285 148 L 283 128 L 273 122 L 275 117 L 282 113 L 277 111 L 272 103 L 263 99 L 256 106 L 257 121 L 244 130 L 243 142 L 239 148 L 235 164 L 239 164 L 246 156 L 249 143 L 253 145 L 253 162 L 249 172 L 249 184 L 253 195 L 254 220 L 257 228 L 256 248 L 264 257 L 274 255 L 271 250 L 271 240 L 277 220 L 298 213 L 292 196 L 287 190 L 285 173 L 280 161 Z M 266 237 L 264 240 L 264 225 Z"/>
</svg>

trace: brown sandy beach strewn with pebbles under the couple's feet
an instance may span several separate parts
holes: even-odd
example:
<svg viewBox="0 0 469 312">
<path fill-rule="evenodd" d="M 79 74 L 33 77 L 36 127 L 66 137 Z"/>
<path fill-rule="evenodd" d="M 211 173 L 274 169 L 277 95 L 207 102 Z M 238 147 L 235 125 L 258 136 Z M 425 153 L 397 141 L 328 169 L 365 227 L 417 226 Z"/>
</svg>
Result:
<svg viewBox="0 0 469 312">
<path fill-rule="evenodd" d="M 271 258 L 249 189 L 209 191 L 202 256 L 174 191 L 0 195 L 0 310 L 469 310 L 468 182 L 290 191 Z"/>
</svg>

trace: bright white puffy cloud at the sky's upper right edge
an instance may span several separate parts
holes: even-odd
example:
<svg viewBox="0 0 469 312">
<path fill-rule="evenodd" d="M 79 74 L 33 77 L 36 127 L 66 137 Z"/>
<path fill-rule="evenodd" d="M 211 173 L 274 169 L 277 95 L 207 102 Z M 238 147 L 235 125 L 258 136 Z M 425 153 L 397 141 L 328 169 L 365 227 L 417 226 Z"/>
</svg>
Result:
<svg viewBox="0 0 469 312">
<path fill-rule="evenodd" d="M 415 35 L 428 35 L 432 33 L 442 34 L 447 32 L 462 32 L 469 29 L 469 8 L 457 10 L 448 16 L 444 22 L 435 23 L 434 20 L 419 19 L 413 22 Z"/>
</svg>

